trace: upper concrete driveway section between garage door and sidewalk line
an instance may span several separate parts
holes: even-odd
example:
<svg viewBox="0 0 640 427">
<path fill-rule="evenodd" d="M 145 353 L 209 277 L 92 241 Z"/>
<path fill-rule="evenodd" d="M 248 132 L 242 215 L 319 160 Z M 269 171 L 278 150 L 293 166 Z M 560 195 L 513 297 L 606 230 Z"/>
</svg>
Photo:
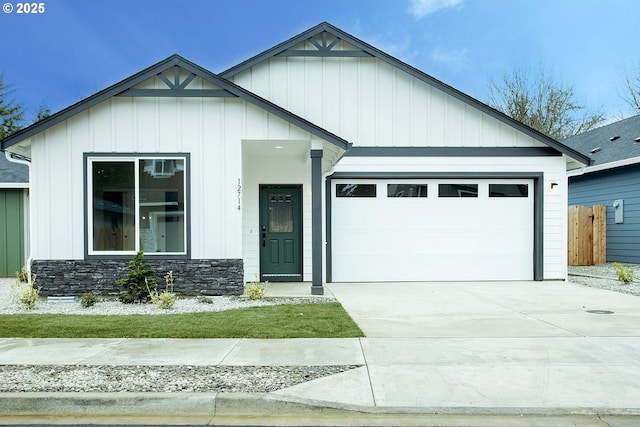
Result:
<svg viewBox="0 0 640 427">
<path fill-rule="evenodd" d="M 561 281 L 330 283 L 327 289 L 368 338 L 640 336 L 639 297 Z"/>
</svg>

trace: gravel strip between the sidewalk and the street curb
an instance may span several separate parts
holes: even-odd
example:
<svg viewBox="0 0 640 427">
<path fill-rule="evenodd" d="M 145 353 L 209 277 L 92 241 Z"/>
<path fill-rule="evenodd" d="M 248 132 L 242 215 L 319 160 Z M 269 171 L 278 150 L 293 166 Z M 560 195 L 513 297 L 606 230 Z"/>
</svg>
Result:
<svg viewBox="0 0 640 427">
<path fill-rule="evenodd" d="M 357 367 L 0 365 L 0 393 L 268 393 Z"/>
</svg>

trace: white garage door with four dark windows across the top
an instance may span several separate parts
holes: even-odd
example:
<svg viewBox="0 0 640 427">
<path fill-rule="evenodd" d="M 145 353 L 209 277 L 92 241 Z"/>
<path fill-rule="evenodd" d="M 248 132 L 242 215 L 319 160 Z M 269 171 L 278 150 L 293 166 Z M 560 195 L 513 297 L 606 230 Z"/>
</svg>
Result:
<svg viewBox="0 0 640 427">
<path fill-rule="evenodd" d="M 533 279 L 533 180 L 334 180 L 332 280 Z"/>
</svg>

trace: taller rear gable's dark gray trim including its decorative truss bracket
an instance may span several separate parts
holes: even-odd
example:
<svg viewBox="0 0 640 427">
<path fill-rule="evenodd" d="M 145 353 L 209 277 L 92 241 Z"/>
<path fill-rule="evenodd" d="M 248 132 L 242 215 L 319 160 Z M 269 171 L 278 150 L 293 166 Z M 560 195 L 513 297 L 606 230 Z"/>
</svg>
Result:
<svg viewBox="0 0 640 427">
<path fill-rule="evenodd" d="M 332 48 L 335 46 L 335 43 L 327 44 L 327 39 L 326 39 L 327 35 L 331 35 L 339 40 L 344 40 L 348 44 L 356 47 L 358 50 L 346 50 L 346 51 L 332 50 Z M 317 36 L 322 36 L 322 42 L 319 43 L 315 40 Z M 300 50 L 293 49 L 297 45 L 306 41 L 310 41 L 317 48 L 317 51 L 314 51 L 314 50 L 300 51 Z M 535 138 L 536 140 L 556 149 L 557 151 L 563 154 L 566 154 L 567 156 L 581 163 L 584 163 L 587 165 L 589 164 L 589 161 L 590 161 L 589 157 L 585 156 L 583 153 L 580 153 L 570 147 L 567 147 L 566 145 L 556 141 L 555 139 L 549 138 L 548 136 L 536 131 L 535 129 L 532 129 L 529 126 L 526 126 L 525 124 L 512 119 L 511 117 L 488 106 L 487 104 L 480 102 L 477 99 L 463 92 L 460 92 L 459 90 L 441 82 L 440 80 L 437 80 L 436 78 L 418 70 L 417 68 L 414 68 L 411 65 L 406 64 L 400 61 L 399 59 L 394 58 L 393 56 L 371 46 L 370 44 L 367 44 L 362 40 L 359 40 L 356 37 L 348 33 L 345 33 L 344 31 L 334 27 L 328 22 L 323 22 L 283 43 L 280 43 L 277 46 L 272 47 L 271 49 L 268 49 L 250 59 L 247 59 L 246 61 L 234 67 L 231 67 L 226 71 L 223 71 L 222 73 L 220 73 L 220 76 L 226 79 L 231 78 L 234 75 L 241 73 L 242 71 L 248 68 L 251 68 L 260 62 L 266 61 L 269 58 L 272 58 L 274 56 L 303 56 L 303 55 L 304 56 L 328 56 L 328 57 L 339 57 L 339 56 L 375 57 L 406 72 L 407 74 L 419 80 L 422 80 L 430 84 L 433 87 L 436 87 L 437 89 L 445 92 L 446 94 L 482 111 L 483 113 L 486 113 L 489 116 L 513 128 L 516 128 L 517 130 Z"/>
</svg>

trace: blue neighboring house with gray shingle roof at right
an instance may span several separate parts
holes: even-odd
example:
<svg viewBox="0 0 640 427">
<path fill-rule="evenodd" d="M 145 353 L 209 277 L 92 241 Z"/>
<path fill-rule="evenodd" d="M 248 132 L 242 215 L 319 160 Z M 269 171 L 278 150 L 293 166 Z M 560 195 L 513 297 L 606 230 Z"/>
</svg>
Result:
<svg viewBox="0 0 640 427">
<path fill-rule="evenodd" d="M 563 143 L 592 159 L 568 173 L 569 205 L 606 205 L 607 261 L 640 263 L 640 115 Z"/>
</svg>

